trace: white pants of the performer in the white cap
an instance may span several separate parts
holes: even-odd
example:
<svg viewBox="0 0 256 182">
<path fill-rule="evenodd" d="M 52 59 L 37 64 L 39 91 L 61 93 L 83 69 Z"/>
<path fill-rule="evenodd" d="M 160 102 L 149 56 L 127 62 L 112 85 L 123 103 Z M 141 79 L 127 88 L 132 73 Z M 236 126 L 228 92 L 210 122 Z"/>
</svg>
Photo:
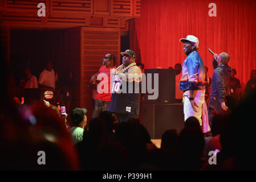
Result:
<svg viewBox="0 0 256 182">
<path fill-rule="evenodd" d="M 186 119 L 188 119 L 189 117 L 196 117 L 200 123 L 200 125 L 202 126 L 202 105 L 204 104 L 205 102 L 205 91 L 204 90 L 194 90 L 194 102 L 195 104 L 198 106 L 197 107 L 197 110 L 195 111 L 193 108 L 192 108 L 192 105 L 189 101 L 189 90 L 186 91 L 184 94 L 183 94 L 183 97 L 184 97 L 184 105 L 183 105 L 183 108 L 184 108 L 184 119 L 186 121 Z"/>
</svg>

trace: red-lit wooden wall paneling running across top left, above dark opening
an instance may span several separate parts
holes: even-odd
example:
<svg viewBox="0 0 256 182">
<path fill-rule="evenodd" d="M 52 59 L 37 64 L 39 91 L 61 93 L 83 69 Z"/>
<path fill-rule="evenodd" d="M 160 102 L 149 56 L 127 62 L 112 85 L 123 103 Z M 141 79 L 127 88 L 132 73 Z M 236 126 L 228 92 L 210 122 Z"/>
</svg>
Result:
<svg viewBox="0 0 256 182">
<path fill-rule="evenodd" d="M 124 28 L 125 21 L 140 16 L 136 0 L 2 0 L 0 23 L 5 27 Z M 38 3 L 46 5 L 46 16 L 39 17 Z"/>
</svg>

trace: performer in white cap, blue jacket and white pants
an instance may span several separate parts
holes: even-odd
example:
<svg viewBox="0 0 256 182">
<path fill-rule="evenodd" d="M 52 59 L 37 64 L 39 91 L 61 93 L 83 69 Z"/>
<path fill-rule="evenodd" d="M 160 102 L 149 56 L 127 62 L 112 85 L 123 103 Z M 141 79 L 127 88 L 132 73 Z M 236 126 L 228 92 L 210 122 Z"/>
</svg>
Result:
<svg viewBox="0 0 256 182">
<path fill-rule="evenodd" d="M 196 117 L 202 126 L 203 133 L 210 131 L 208 112 L 205 103 L 205 65 L 197 52 L 199 41 L 193 35 L 180 39 L 183 50 L 188 56 L 182 65 L 180 89 L 184 92 L 184 119 Z M 201 119 L 202 118 L 202 119 Z"/>
</svg>

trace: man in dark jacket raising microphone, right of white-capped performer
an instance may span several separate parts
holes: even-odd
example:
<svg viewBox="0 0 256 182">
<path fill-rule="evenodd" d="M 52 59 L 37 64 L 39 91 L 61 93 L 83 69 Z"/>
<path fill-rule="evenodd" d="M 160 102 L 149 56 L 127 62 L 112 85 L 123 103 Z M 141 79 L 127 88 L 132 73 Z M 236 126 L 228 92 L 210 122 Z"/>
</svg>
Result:
<svg viewBox="0 0 256 182">
<path fill-rule="evenodd" d="M 212 92 L 209 104 L 215 107 L 218 113 L 225 113 L 228 107 L 225 104 L 226 97 L 230 95 L 229 78 L 231 68 L 229 63 L 229 55 L 226 52 L 221 52 L 220 55 L 214 54 L 213 59 L 213 77 L 212 77 Z"/>
</svg>

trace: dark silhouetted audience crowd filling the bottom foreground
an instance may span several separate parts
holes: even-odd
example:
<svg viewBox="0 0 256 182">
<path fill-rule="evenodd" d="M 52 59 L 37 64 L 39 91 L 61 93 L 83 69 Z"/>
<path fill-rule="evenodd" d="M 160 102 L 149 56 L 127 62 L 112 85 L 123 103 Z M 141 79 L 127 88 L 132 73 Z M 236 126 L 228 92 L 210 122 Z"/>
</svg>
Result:
<svg viewBox="0 0 256 182">
<path fill-rule="evenodd" d="M 108 111 L 90 122 L 86 110 L 71 113 L 72 127 L 58 108 L 46 104 L 1 106 L 1 169 L 22 170 L 243 170 L 256 169 L 253 157 L 256 93 L 229 115 L 215 115 L 212 137 L 204 137 L 198 120 L 184 129 L 166 130 L 161 147 L 152 143 L 139 119 L 118 123 Z M 7 98 L 6 98 L 7 101 Z M 77 131 L 79 129 L 79 131 Z M 46 164 L 38 164 L 38 151 Z M 209 155 L 214 151 L 216 164 Z"/>
</svg>

